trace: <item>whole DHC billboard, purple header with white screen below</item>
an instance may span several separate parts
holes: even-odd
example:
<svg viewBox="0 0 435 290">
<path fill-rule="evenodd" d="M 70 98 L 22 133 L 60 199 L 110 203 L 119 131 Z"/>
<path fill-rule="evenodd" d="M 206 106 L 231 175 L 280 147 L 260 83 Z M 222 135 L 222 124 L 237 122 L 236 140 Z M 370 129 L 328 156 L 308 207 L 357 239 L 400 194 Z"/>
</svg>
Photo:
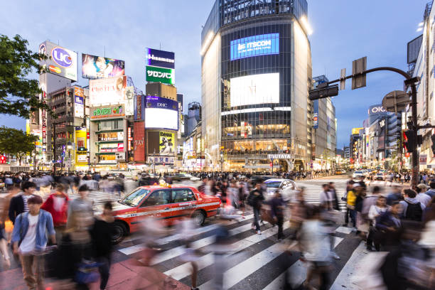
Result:
<svg viewBox="0 0 435 290">
<path fill-rule="evenodd" d="M 145 128 L 178 130 L 178 102 L 146 96 Z"/>
</svg>

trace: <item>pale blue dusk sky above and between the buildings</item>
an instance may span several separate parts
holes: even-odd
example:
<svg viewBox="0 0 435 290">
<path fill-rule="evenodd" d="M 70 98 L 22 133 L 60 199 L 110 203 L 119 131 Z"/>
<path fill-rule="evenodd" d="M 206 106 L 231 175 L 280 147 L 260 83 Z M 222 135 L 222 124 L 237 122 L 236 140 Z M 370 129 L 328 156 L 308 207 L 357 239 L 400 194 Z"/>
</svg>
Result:
<svg viewBox="0 0 435 290">
<path fill-rule="evenodd" d="M 313 77 L 338 78 L 351 73 L 352 60 L 367 56 L 367 68 L 393 66 L 407 70 L 407 42 L 419 36 L 428 0 L 308 0 L 313 28 Z M 185 104 L 200 102 L 200 33 L 214 0 L 184 1 L 4 1 L 0 33 L 26 38 L 38 49 L 45 40 L 78 53 L 125 60 L 126 74 L 145 91 L 144 48 L 176 53 L 176 87 Z M 79 55 L 80 58 L 80 55 Z M 81 60 L 79 60 L 81 65 Z M 81 71 L 79 71 L 81 76 Z M 37 77 L 37 75 L 32 75 Z M 87 80 L 79 77 L 80 85 Z M 403 77 L 372 73 L 367 87 L 346 90 L 333 103 L 338 119 L 337 147 L 349 144 L 350 130 L 367 118 L 367 108 L 380 104 L 392 90 L 403 89 Z M 0 115 L 0 124 L 25 128 L 25 120 Z"/>
</svg>

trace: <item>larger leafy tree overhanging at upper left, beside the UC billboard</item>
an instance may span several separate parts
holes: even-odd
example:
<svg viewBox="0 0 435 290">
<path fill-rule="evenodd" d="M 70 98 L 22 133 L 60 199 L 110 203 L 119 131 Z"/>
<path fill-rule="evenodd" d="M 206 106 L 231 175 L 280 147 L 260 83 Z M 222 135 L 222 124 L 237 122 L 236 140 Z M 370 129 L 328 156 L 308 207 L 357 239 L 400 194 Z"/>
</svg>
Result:
<svg viewBox="0 0 435 290">
<path fill-rule="evenodd" d="M 44 73 L 47 68 L 39 65 L 47 59 L 42 53 L 33 53 L 27 48 L 28 41 L 21 36 L 0 35 L 0 114 L 28 118 L 38 109 L 52 111 L 39 100 L 41 89 L 38 80 L 28 78 L 30 73 Z"/>
</svg>

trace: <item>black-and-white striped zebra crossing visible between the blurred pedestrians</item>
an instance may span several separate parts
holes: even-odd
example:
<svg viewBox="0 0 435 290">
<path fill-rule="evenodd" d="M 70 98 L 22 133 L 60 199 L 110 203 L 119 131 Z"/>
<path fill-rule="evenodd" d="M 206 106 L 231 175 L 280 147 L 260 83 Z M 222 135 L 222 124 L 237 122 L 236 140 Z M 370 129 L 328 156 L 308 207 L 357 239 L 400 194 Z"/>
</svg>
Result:
<svg viewBox="0 0 435 290">
<path fill-rule="evenodd" d="M 227 224 L 231 243 L 224 254 L 224 289 L 281 289 L 286 276 L 290 277 L 291 284 L 295 287 L 300 286 L 306 277 L 306 264 L 299 260 L 296 242 L 290 239 L 278 242 L 277 228 L 267 222 L 261 225 L 262 235 L 257 235 L 251 228 L 253 218 L 249 214 Z M 196 260 L 199 289 L 213 289 L 216 259 L 213 254 L 213 232 L 216 227 L 218 225 L 212 219 L 207 225 L 198 228 L 193 236 L 191 246 L 199 253 Z M 290 233 L 289 222 L 284 222 L 284 235 L 289 236 Z M 334 248 L 341 257 L 340 263 L 335 264 L 338 273 L 360 240 L 347 227 L 337 227 L 333 235 Z M 183 284 L 190 284 L 191 265 L 182 259 L 185 247 L 180 244 L 178 235 L 168 235 L 158 243 L 167 250 L 156 256 L 151 264 L 159 272 Z M 136 258 L 141 261 L 145 249 L 141 235 L 135 234 L 117 246 L 114 257 L 119 260 Z"/>
</svg>

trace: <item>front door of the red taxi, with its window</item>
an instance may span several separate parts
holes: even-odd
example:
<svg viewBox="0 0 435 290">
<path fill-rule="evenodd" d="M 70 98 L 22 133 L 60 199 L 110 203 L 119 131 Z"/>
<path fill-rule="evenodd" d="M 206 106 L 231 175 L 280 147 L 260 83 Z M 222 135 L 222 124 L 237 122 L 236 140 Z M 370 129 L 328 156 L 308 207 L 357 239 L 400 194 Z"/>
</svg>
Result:
<svg viewBox="0 0 435 290">
<path fill-rule="evenodd" d="M 138 210 L 138 222 L 144 218 L 171 220 L 171 189 L 156 189 L 149 193 Z"/>
</svg>

